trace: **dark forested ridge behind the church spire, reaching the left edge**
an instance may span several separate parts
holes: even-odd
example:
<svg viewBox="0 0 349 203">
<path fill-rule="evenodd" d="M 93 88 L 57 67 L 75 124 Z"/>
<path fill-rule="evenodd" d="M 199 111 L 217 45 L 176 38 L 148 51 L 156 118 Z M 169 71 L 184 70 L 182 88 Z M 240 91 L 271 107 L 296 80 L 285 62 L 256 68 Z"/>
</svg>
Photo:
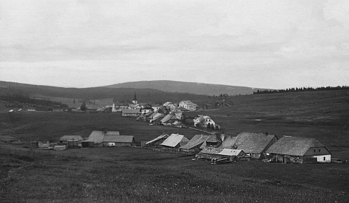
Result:
<svg viewBox="0 0 349 203">
<path fill-rule="evenodd" d="M 21 84 L 15 82 L 0 81 L 0 95 L 21 94 L 26 96 L 50 96 L 60 98 L 77 98 L 82 100 L 98 100 L 104 98 L 115 98 L 115 100 L 132 100 L 134 93 L 137 94 L 138 100 L 141 102 L 166 102 L 180 100 L 200 100 L 207 96 L 192 93 L 173 93 L 165 92 L 157 89 L 133 89 L 133 88 L 107 88 L 107 87 L 91 87 L 91 88 L 63 88 L 50 87 L 32 84 Z"/>
</svg>

